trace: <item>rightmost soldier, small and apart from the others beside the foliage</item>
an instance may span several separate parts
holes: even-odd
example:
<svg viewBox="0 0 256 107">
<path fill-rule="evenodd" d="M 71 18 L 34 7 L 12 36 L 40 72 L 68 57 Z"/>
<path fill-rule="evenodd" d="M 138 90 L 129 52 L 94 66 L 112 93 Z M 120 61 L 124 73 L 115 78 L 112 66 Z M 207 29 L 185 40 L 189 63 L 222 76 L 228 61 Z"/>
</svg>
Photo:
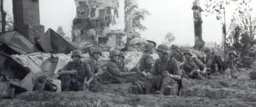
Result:
<svg viewBox="0 0 256 107">
<path fill-rule="evenodd" d="M 237 62 L 236 62 L 237 53 L 235 51 L 230 51 L 228 55 L 229 55 L 229 59 L 228 59 L 227 65 L 231 69 L 231 77 L 233 79 L 237 79 L 238 78 L 238 76 L 236 75 L 238 70 Z"/>
</svg>

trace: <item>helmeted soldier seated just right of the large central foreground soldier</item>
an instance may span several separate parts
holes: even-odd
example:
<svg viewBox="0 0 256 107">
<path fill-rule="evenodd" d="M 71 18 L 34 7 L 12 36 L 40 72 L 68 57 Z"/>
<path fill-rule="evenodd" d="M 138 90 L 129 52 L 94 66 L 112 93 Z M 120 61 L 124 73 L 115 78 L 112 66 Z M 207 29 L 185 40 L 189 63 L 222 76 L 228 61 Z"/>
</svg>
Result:
<svg viewBox="0 0 256 107">
<path fill-rule="evenodd" d="M 186 59 L 185 63 L 182 65 L 182 69 L 185 72 L 183 73 L 183 77 L 205 80 L 203 75 L 206 73 L 206 65 L 204 65 L 198 58 L 192 58 L 193 55 L 189 49 L 185 50 L 183 55 Z"/>
</svg>

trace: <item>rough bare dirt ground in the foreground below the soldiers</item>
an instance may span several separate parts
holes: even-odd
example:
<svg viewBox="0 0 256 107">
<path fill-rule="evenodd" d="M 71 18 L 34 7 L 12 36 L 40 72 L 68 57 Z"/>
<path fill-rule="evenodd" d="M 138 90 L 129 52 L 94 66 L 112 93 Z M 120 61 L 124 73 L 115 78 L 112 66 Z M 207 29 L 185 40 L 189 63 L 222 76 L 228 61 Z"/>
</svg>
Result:
<svg viewBox="0 0 256 107">
<path fill-rule="evenodd" d="M 102 84 L 101 92 L 34 91 L 3 99 L 0 106 L 255 106 L 256 80 L 249 70 L 239 72 L 239 79 L 216 75 L 211 80 L 182 79 L 179 96 L 131 95 L 127 84 Z"/>
</svg>

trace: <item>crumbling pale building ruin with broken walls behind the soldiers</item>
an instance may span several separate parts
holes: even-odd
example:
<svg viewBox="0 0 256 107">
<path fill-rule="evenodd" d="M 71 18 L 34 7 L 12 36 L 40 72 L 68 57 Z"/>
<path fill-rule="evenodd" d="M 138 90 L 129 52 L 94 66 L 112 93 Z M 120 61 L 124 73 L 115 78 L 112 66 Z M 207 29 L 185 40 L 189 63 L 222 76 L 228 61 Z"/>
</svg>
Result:
<svg viewBox="0 0 256 107">
<path fill-rule="evenodd" d="M 124 30 L 124 0 L 75 0 L 73 41 L 90 41 L 122 48 L 127 42 Z"/>
</svg>

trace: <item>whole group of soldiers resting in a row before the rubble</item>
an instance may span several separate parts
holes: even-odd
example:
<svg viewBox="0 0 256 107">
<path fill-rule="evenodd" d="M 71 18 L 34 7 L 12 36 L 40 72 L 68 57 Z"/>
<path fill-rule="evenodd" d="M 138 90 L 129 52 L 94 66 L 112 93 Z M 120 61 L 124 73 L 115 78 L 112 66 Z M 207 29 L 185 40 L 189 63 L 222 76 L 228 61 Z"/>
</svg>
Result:
<svg viewBox="0 0 256 107">
<path fill-rule="evenodd" d="M 205 49 L 205 57 L 194 57 L 191 50 L 182 52 L 179 47 L 152 43 L 145 45 L 145 51 L 137 65 L 128 69 L 124 66 L 125 53 L 117 50 L 109 52 L 107 65 L 100 65 L 101 50 L 86 45 L 85 51 L 90 59 L 82 61 L 82 51 L 74 50 L 73 59 L 63 69 L 59 70 L 62 91 L 83 91 L 98 83 L 133 83 L 143 81 L 144 94 L 162 94 L 168 85 L 179 84 L 182 77 L 189 79 L 206 80 L 211 74 L 224 70 L 220 56 L 215 55 L 211 48 Z M 159 59 L 154 60 L 152 54 L 157 52 Z M 231 68 L 231 77 L 237 79 L 235 72 L 237 65 L 235 51 L 229 52 L 228 67 Z M 106 66 L 106 67 L 104 67 Z"/>
</svg>

